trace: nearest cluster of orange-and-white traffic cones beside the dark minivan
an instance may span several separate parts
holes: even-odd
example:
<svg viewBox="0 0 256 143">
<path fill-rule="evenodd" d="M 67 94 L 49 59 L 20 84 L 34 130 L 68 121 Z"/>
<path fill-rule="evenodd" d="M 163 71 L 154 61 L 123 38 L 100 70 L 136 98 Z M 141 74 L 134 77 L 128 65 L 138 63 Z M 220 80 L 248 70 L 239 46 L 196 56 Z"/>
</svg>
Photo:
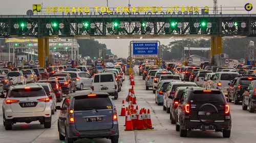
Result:
<svg viewBox="0 0 256 143">
<path fill-rule="evenodd" d="M 120 116 L 125 116 L 125 131 L 154 129 L 152 127 L 150 109 L 147 109 L 147 111 L 145 108 L 139 110 L 138 105 L 134 109 L 132 102 L 125 108 L 124 100 L 122 101 Z"/>
</svg>

